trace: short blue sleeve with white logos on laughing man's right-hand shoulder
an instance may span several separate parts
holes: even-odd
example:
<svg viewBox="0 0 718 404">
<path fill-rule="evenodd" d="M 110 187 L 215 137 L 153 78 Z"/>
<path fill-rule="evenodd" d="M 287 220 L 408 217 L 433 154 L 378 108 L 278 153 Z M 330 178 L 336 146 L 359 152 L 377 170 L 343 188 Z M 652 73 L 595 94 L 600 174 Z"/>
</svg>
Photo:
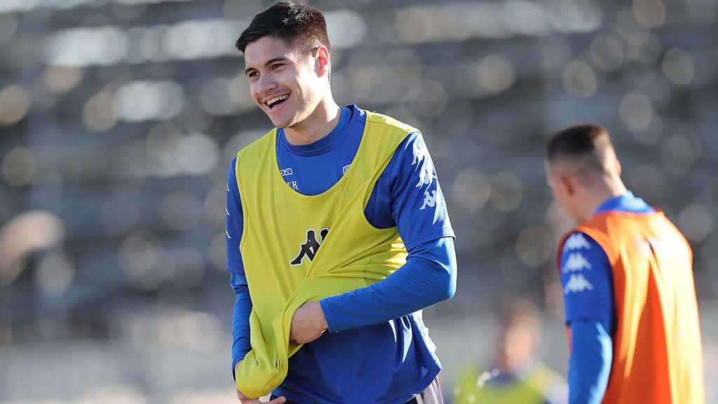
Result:
<svg viewBox="0 0 718 404">
<path fill-rule="evenodd" d="M 377 229 L 396 226 L 409 251 L 441 237 L 454 237 L 434 163 L 419 132 L 399 144 L 364 214 Z"/>
</svg>

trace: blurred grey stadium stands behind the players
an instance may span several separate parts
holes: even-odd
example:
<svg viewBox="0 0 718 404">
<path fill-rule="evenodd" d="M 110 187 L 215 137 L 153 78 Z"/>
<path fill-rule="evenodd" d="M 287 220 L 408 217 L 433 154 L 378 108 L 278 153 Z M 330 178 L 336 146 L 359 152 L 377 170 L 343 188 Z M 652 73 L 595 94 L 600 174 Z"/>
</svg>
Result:
<svg viewBox="0 0 718 404">
<path fill-rule="evenodd" d="M 225 183 L 271 129 L 239 33 L 269 0 L 0 0 L 0 402 L 232 403 Z M 567 371 L 544 142 L 612 134 L 629 188 L 691 242 L 718 403 L 718 1 L 353 0 L 332 88 L 419 127 L 457 234 L 427 309 L 444 364 L 488 369 L 498 298 L 540 309 Z"/>
</svg>

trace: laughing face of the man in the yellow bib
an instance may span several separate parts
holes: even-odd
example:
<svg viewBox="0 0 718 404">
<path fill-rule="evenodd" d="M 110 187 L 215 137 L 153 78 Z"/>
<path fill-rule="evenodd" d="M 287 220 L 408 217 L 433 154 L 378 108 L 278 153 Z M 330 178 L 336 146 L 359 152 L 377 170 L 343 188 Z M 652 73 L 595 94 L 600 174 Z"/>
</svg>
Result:
<svg viewBox="0 0 718 404">
<path fill-rule="evenodd" d="M 274 126 L 293 127 L 319 104 L 323 83 L 312 55 L 262 37 L 247 45 L 244 62 L 250 95 Z"/>
</svg>

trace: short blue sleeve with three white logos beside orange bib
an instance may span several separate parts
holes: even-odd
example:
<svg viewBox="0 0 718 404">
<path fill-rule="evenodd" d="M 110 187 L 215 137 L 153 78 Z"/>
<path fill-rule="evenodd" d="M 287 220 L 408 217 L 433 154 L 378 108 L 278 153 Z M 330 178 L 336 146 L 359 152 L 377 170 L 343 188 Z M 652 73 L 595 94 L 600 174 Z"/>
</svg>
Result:
<svg viewBox="0 0 718 404">
<path fill-rule="evenodd" d="M 613 323 L 613 277 L 608 257 L 586 234 L 571 234 L 561 252 L 566 323 L 595 320 Z"/>
</svg>

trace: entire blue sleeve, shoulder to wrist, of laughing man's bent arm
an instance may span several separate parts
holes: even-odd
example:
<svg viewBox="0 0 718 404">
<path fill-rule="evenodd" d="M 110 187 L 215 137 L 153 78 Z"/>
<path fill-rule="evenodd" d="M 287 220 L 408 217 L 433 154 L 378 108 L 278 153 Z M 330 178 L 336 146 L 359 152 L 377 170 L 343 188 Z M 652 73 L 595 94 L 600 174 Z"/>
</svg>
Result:
<svg viewBox="0 0 718 404">
<path fill-rule="evenodd" d="M 396 226 L 409 258 L 381 282 L 322 299 L 330 332 L 406 316 L 452 298 L 456 290 L 454 232 L 432 159 L 418 132 L 398 147 L 365 215 L 377 228 Z"/>
</svg>

